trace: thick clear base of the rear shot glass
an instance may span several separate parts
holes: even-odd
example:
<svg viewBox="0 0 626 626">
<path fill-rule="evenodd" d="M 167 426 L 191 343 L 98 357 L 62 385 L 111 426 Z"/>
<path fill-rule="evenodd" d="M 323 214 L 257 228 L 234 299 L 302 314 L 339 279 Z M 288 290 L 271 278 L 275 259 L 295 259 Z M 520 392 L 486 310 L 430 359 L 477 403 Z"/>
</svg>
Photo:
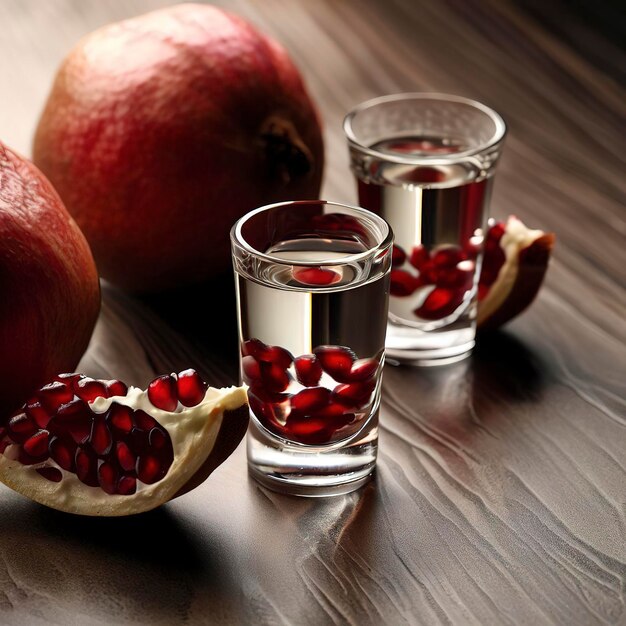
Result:
<svg viewBox="0 0 626 626">
<path fill-rule="evenodd" d="M 447 365 L 467 358 L 474 348 L 473 323 L 424 331 L 394 322 L 387 325 L 385 360 L 392 365 Z"/>
</svg>

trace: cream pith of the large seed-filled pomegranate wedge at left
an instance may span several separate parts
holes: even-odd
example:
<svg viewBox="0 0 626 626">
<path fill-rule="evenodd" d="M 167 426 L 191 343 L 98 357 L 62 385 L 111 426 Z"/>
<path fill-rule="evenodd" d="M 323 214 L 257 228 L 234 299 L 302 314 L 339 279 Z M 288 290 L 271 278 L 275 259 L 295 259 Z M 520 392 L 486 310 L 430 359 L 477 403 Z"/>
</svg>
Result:
<svg viewBox="0 0 626 626">
<path fill-rule="evenodd" d="M 98 398 L 90 403 L 94 413 L 105 413 L 113 402 L 141 409 L 154 417 L 172 439 L 174 461 L 165 477 L 153 485 L 138 480 L 133 495 L 109 495 L 100 487 L 89 487 L 52 459 L 22 465 L 10 458 L 13 446 L 0 455 L 0 481 L 36 502 L 68 513 L 118 516 L 148 511 L 167 502 L 198 471 L 213 449 L 224 411 L 235 410 L 246 401 L 243 387 L 209 387 L 200 404 L 187 408 L 179 403 L 175 411 L 168 412 L 153 406 L 146 391 L 131 387 L 126 396 Z M 40 467 L 56 467 L 63 479 L 55 483 L 44 478 L 36 471 Z"/>
</svg>

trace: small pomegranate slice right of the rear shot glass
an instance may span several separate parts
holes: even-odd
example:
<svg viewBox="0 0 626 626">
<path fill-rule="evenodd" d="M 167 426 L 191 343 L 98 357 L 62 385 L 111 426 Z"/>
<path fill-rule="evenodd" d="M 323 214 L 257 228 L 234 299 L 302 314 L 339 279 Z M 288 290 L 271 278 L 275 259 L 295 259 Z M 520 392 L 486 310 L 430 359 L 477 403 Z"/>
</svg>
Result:
<svg viewBox="0 0 626 626">
<path fill-rule="evenodd" d="M 519 315 L 535 299 L 556 237 L 527 228 L 516 217 L 490 222 L 478 288 L 477 325 L 492 330 Z"/>
</svg>

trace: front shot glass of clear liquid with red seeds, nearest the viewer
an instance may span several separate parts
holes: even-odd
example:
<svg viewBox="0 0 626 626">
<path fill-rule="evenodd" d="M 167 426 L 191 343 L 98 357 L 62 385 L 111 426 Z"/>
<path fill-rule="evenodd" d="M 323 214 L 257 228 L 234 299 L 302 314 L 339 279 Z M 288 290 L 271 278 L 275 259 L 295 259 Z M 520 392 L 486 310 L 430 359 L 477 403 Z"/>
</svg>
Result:
<svg viewBox="0 0 626 626">
<path fill-rule="evenodd" d="M 261 207 L 231 231 L 248 468 L 284 493 L 348 493 L 374 470 L 393 235 L 361 208 Z"/>
</svg>

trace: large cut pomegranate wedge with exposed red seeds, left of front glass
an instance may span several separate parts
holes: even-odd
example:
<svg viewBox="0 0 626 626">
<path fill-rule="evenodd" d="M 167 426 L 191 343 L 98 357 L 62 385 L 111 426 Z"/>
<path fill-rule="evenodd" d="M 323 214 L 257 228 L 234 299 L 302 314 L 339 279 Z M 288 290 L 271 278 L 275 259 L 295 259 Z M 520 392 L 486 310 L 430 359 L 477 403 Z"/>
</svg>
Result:
<svg viewBox="0 0 626 626">
<path fill-rule="evenodd" d="M 61 374 L 0 427 L 0 481 L 67 513 L 141 513 L 203 482 L 247 425 L 245 389 L 194 370 L 147 391 Z"/>
</svg>

